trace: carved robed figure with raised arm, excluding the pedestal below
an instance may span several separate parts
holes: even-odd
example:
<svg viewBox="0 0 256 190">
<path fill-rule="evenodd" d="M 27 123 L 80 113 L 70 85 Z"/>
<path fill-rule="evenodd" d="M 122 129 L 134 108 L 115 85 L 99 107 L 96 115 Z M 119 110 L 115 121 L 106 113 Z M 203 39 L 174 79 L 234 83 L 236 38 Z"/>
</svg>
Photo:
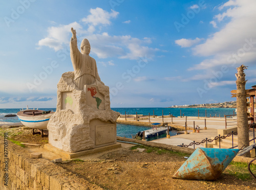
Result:
<svg viewBox="0 0 256 190">
<path fill-rule="evenodd" d="M 70 40 L 70 57 L 74 67 L 74 83 L 83 90 L 84 85 L 95 83 L 96 79 L 101 82 L 98 74 L 96 61 L 90 57 L 91 45 L 88 39 L 81 42 L 81 52 L 77 48 L 76 30 L 71 28 L 72 38 Z M 103 82 L 101 82 L 104 84 Z"/>
</svg>

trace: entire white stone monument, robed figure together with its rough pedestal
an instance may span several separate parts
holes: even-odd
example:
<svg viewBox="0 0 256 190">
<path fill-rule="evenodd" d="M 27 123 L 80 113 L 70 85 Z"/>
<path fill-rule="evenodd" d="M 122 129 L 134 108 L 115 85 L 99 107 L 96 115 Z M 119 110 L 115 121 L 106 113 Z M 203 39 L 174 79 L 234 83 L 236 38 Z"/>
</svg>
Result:
<svg viewBox="0 0 256 190">
<path fill-rule="evenodd" d="M 69 153 L 108 146 L 115 148 L 116 120 L 120 113 L 110 108 L 109 87 L 101 82 L 96 61 L 89 56 L 87 39 L 77 48 L 71 28 L 70 56 L 74 72 L 63 73 L 57 84 L 56 112 L 51 116 L 49 146 Z"/>
</svg>

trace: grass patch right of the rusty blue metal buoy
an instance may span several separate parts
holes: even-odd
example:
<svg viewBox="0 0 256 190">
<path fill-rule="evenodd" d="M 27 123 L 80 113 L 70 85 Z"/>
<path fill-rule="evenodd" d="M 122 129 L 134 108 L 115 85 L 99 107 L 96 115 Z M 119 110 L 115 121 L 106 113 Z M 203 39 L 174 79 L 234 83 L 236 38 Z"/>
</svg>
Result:
<svg viewBox="0 0 256 190">
<path fill-rule="evenodd" d="M 251 172 L 255 175 L 256 174 L 256 165 L 251 163 L 250 169 L 251 169 Z M 250 175 L 250 173 L 248 171 L 248 164 L 244 163 L 244 162 L 231 161 L 231 163 L 226 168 L 225 173 L 228 173 L 229 175 L 234 176 L 243 181 L 254 179 L 254 178 L 252 178 L 252 176 Z"/>
</svg>

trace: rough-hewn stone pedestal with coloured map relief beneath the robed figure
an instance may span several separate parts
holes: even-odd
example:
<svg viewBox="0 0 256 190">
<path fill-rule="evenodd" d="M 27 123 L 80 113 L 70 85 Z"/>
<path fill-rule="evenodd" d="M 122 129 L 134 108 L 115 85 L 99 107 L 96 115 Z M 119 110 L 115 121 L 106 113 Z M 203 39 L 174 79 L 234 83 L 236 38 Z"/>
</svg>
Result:
<svg viewBox="0 0 256 190">
<path fill-rule="evenodd" d="M 74 153 L 116 143 L 116 120 L 110 109 L 109 87 L 96 80 L 79 90 L 74 72 L 64 73 L 57 85 L 57 107 L 47 126 L 49 144 Z"/>
</svg>

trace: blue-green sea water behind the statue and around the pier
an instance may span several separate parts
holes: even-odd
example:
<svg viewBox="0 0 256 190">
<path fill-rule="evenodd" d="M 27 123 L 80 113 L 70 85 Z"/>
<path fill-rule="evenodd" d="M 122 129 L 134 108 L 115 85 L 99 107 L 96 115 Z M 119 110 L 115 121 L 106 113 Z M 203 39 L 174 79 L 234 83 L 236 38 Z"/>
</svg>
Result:
<svg viewBox="0 0 256 190">
<path fill-rule="evenodd" d="M 24 108 L 25 109 L 25 108 Z M 114 111 L 120 112 L 121 114 L 143 114 L 143 115 L 153 115 L 153 110 L 155 115 L 162 115 L 162 112 L 164 115 L 173 114 L 174 116 L 180 116 L 181 114 L 185 116 L 198 116 L 198 110 L 199 115 L 201 117 L 205 116 L 205 110 L 207 116 L 217 116 L 223 117 L 224 115 L 231 115 L 233 114 L 234 108 L 111 108 Z M 39 110 L 52 110 L 56 111 L 56 108 L 39 108 Z M 0 122 L 12 122 L 17 123 L 18 117 L 4 117 L 7 114 L 17 114 L 17 112 L 20 111 L 20 109 L 0 109 Z M 235 112 L 236 114 L 236 112 Z M 117 124 L 117 136 L 125 136 L 127 138 L 132 138 L 132 135 L 135 135 L 139 131 L 144 131 L 150 129 L 150 127 L 144 127 L 144 126 L 134 126 L 134 125 L 123 125 L 123 124 Z M 170 135 L 176 135 L 176 131 L 170 131 Z M 159 136 L 158 138 L 160 138 Z M 163 136 L 165 137 L 165 136 Z"/>
</svg>

